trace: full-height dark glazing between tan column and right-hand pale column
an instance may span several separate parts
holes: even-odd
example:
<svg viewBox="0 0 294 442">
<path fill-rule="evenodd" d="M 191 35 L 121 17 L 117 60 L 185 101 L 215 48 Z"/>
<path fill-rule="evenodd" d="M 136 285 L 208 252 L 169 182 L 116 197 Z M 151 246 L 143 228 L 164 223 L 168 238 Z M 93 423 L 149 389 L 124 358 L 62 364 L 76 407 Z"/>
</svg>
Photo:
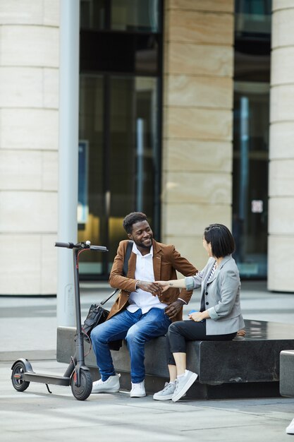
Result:
<svg viewBox="0 0 294 442">
<path fill-rule="evenodd" d="M 267 277 L 271 0 L 235 1 L 233 235 L 241 277 Z"/>
</svg>

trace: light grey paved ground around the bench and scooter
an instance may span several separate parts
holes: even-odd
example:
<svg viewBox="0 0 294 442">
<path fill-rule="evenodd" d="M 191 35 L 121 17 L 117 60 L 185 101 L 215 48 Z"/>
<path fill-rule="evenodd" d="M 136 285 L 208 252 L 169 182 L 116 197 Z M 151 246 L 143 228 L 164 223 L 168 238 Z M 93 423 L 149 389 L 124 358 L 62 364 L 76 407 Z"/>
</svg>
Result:
<svg viewBox="0 0 294 442">
<path fill-rule="evenodd" d="M 109 289 L 83 285 L 82 316 Z M 244 282 L 244 317 L 287 323 L 294 320 L 294 294 L 267 292 L 264 282 Z M 185 309 L 197 307 L 192 301 Z M 155 402 L 128 393 L 73 398 L 71 388 L 31 383 L 23 393 L 11 385 L 11 363 L 28 357 L 39 373 L 63 374 L 56 354 L 56 299 L 0 297 L 1 441 L 218 441 L 280 442 L 294 417 L 294 398 L 180 400 Z M 293 436 L 294 439 L 294 436 Z"/>
</svg>

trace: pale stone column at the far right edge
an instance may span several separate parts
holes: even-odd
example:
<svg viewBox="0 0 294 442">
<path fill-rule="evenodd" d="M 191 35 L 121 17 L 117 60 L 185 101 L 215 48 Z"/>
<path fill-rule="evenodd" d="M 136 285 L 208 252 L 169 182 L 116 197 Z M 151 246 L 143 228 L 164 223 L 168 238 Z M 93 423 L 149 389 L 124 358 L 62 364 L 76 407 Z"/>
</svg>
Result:
<svg viewBox="0 0 294 442">
<path fill-rule="evenodd" d="M 274 0 L 269 137 L 268 289 L 294 292 L 294 3 Z"/>
</svg>

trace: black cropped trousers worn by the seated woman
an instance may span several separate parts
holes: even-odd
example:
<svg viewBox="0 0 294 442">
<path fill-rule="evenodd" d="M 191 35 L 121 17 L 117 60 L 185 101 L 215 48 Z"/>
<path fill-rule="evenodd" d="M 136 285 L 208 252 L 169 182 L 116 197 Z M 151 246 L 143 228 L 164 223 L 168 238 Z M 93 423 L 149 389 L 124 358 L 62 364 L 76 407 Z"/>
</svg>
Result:
<svg viewBox="0 0 294 442">
<path fill-rule="evenodd" d="M 166 334 L 166 357 L 169 365 L 176 365 L 173 353 L 185 353 L 187 341 L 231 341 L 237 333 L 228 335 L 207 335 L 206 321 L 176 321 Z"/>
</svg>

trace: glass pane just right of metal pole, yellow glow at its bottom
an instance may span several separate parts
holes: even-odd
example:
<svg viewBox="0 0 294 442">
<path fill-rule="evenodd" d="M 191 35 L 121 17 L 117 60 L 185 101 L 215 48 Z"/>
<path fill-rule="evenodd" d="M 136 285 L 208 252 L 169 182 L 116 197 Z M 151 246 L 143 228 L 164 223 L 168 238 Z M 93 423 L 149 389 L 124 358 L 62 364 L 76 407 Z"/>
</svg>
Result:
<svg viewBox="0 0 294 442">
<path fill-rule="evenodd" d="M 104 81 L 80 75 L 78 240 L 103 244 Z M 106 254 L 106 253 L 105 253 Z M 104 253 L 84 253 L 81 273 L 102 273 Z"/>
</svg>

